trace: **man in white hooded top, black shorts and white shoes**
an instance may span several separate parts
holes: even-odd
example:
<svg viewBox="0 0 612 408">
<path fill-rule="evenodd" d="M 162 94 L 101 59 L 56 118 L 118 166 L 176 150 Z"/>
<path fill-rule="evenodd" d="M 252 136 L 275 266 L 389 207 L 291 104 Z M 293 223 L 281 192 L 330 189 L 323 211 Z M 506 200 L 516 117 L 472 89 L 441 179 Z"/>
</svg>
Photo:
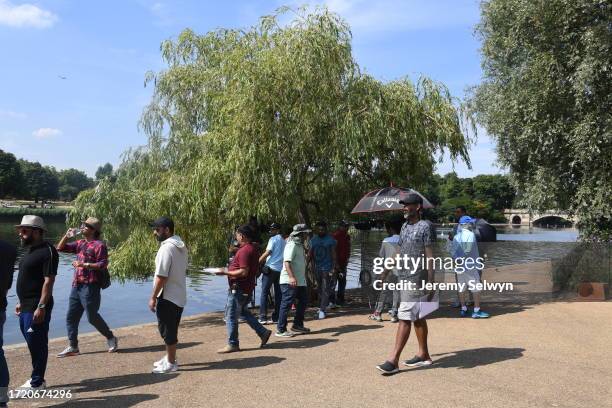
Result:
<svg viewBox="0 0 612 408">
<path fill-rule="evenodd" d="M 153 372 L 166 374 L 178 370 L 178 327 L 187 303 L 187 247 L 174 234 L 174 221 L 170 218 L 160 217 L 149 225 L 160 243 L 149 309 L 157 316 L 159 334 L 166 344 L 166 355 L 153 363 Z"/>
</svg>

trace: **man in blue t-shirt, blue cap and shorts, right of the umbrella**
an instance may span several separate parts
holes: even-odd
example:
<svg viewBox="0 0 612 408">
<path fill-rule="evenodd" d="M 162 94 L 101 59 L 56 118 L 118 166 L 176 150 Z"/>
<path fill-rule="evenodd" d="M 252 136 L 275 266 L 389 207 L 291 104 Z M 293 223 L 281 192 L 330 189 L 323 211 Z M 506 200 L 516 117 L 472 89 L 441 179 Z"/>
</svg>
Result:
<svg viewBox="0 0 612 408">
<path fill-rule="evenodd" d="M 461 265 L 455 267 L 455 273 L 459 286 L 459 302 L 461 303 L 461 317 L 468 317 L 468 308 L 466 305 L 466 292 L 472 293 L 474 298 L 474 310 L 471 314 L 474 319 L 484 319 L 489 317 L 489 314 L 480 310 L 480 271 L 476 260 L 479 258 L 478 245 L 476 243 L 476 235 L 473 227 L 475 220 L 469 215 L 464 215 L 459 218 L 459 228 L 453 237 L 452 255 L 453 258 L 461 260 Z"/>
</svg>

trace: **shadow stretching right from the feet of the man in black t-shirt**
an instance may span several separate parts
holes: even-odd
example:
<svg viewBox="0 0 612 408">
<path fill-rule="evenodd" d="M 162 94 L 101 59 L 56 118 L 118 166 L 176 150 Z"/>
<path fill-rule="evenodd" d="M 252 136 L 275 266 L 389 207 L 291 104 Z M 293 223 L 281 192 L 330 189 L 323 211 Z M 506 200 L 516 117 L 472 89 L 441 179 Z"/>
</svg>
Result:
<svg viewBox="0 0 612 408">
<path fill-rule="evenodd" d="M 73 395 L 79 392 L 114 392 L 129 390 L 145 385 L 159 384 L 171 380 L 177 375 L 177 373 L 164 375 L 153 373 L 125 374 L 112 377 L 87 378 L 78 383 L 61 384 L 53 388 L 70 389 Z"/>
</svg>

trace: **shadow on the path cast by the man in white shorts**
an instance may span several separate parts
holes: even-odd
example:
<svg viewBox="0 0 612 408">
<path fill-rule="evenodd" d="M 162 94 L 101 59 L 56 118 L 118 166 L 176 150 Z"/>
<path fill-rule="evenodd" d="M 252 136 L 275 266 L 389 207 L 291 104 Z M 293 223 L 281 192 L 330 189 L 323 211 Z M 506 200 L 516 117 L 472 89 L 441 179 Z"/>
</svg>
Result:
<svg viewBox="0 0 612 408">
<path fill-rule="evenodd" d="M 432 368 L 474 368 L 523 357 L 524 348 L 481 347 L 471 350 L 458 350 L 450 353 L 432 354 Z"/>
</svg>

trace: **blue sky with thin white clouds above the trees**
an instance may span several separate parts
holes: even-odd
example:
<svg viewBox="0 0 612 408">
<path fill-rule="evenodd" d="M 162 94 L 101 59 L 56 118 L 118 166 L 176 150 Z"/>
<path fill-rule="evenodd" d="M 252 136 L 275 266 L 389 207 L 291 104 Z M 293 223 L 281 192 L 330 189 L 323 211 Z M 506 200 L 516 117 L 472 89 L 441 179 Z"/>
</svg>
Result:
<svg viewBox="0 0 612 408">
<path fill-rule="evenodd" d="M 149 102 L 147 71 L 164 69 L 159 46 L 185 28 L 248 27 L 281 5 L 326 5 L 351 26 L 362 69 L 388 81 L 426 75 L 465 97 L 481 78 L 477 0 L 0 0 L 0 149 L 93 176 L 115 167 Z M 472 169 L 446 158 L 437 172 L 503 172 L 479 129 Z"/>
</svg>

